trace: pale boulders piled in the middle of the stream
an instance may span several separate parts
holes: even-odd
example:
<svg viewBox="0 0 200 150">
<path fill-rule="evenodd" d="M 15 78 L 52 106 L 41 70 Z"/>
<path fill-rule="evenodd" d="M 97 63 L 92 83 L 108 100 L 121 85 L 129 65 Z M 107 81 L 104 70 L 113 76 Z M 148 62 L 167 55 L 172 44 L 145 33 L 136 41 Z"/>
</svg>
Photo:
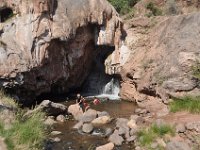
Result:
<svg viewBox="0 0 200 150">
<path fill-rule="evenodd" d="M 87 134 L 92 134 L 95 127 L 102 127 L 114 120 L 105 111 L 99 112 L 94 109 L 89 109 L 83 113 L 79 109 L 78 104 L 69 106 L 68 112 L 78 121 L 73 128 Z M 120 146 L 125 142 L 134 142 L 139 126 L 144 123 L 144 117 L 139 115 L 132 115 L 129 119 L 117 118 L 114 129 L 105 129 L 104 137 L 108 137 L 110 143 L 99 146 L 96 149 L 112 150 L 114 145 Z"/>
</svg>

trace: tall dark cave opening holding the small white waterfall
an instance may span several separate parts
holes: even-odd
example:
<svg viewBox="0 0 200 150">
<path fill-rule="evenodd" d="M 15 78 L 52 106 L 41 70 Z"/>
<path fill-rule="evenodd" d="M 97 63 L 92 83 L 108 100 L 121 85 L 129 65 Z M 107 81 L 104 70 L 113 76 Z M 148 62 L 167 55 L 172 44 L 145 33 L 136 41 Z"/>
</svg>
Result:
<svg viewBox="0 0 200 150">
<path fill-rule="evenodd" d="M 84 96 L 118 96 L 119 77 L 105 72 L 105 60 L 115 50 L 112 46 L 98 46 L 97 55 L 93 59 L 90 74 L 80 91 Z"/>
</svg>

